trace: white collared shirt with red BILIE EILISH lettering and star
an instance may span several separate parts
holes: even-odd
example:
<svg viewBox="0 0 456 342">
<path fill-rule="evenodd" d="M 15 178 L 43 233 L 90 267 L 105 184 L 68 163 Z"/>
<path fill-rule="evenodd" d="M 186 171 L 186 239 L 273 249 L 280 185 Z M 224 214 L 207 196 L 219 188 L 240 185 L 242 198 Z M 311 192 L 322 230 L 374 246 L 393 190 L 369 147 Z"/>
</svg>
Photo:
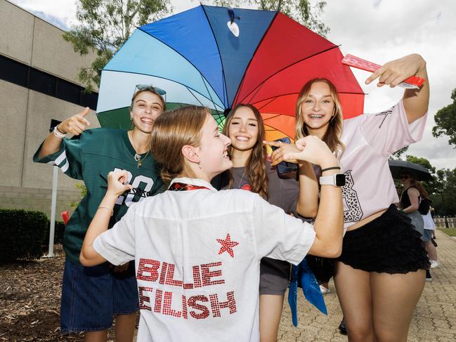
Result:
<svg viewBox="0 0 456 342">
<path fill-rule="evenodd" d="M 143 341 L 259 341 L 263 256 L 299 263 L 313 226 L 245 190 L 166 191 L 133 204 L 93 246 L 135 260 Z"/>
</svg>

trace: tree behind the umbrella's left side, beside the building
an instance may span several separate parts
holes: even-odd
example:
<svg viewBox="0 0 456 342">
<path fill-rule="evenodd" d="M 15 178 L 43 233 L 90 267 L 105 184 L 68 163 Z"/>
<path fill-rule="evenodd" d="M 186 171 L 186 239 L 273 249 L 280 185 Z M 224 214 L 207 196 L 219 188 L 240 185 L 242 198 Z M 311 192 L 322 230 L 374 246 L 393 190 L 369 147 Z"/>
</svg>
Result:
<svg viewBox="0 0 456 342">
<path fill-rule="evenodd" d="M 79 81 L 90 92 L 99 86 L 101 69 L 129 39 L 133 30 L 171 11 L 169 0 L 78 0 L 74 25 L 63 34 L 74 52 L 96 51 L 91 67 L 79 70 Z"/>
</svg>

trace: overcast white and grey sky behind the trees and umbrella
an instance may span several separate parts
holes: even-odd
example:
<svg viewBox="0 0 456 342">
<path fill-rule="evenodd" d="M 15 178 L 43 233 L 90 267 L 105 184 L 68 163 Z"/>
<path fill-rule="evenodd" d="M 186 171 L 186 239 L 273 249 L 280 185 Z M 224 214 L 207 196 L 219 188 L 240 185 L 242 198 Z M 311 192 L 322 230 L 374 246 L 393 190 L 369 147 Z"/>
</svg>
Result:
<svg viewBox="0 0 456 342">
<path fill-rule="evenodd" d="M 9 0 L 60 27 L 75 22 L 74 0 Z M 207 2 L 207 1 L 203 1 Z M 174 13 L 195 7 L 199 1 L 174 0 Z M 409 53 L 427 62 L 431 85 L 429 117 L 423 139 L 408 154 L 429 159 L 437 169 L 456 167 L 456 149 L 448 138 L 434 138 L 434 114 L 449 105 L 456 88 L 456 4 L 454 0 L 327 0 L 321 20 L 330 27 L 328 39 L 342 53 L 383 64 Z M 400 88 L 366 86 L 368 72 L 353 70 L 365 97 L 365 112 L 385 110 L 402 97 Z"/>
</svg>

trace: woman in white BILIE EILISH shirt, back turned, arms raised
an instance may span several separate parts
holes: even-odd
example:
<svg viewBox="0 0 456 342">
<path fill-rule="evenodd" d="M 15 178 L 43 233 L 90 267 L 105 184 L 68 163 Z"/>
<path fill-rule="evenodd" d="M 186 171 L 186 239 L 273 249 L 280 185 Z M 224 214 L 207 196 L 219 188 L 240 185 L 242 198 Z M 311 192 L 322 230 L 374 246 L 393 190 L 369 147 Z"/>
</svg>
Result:
<svg viewBox="0 0 456 342">
<path fill-rule="evenodd" d="M 106 231 L 117 194 L 129 188 L 122 185 L 123 171 L 108 176 L 108 191 L 80 260 L 84 265 L 136 260 L 140 342 L 259 341 L 261 258 L 297 264 L 307 253 L 340 254 L 340 188 L 322 186 L 314 227 L 255 193 L 217 192 L 209 182 L 232 166 L 228 145 L 207 109 L 189 106 L 164 113 L 152 131 L 152 153 L 163 165 L 164 180 L 173 178 L 171 190 L 190 189 L 133 204 Z M 337 165 L 320 139 L 308 137 L 297 145 L 294 157 L 325 168 Z"/>
</svg>

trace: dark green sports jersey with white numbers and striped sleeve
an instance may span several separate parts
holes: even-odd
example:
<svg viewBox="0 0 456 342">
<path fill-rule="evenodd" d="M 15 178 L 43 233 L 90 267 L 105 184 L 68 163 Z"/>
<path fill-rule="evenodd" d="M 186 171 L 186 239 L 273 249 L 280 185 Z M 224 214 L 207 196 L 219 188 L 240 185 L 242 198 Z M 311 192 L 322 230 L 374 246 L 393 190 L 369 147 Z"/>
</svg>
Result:
<svg viewBox="0 0 456 342">
<path fill-rule="evenodd" d="M 34 162 L 57 165 L 67 176 L 82 179 L 87 195 L 72 214 L 65 228 L 63 247 L 67 258 L 79 264 L 79 254 L 86 230 L 105 196 L 106 178 L 110 171 L 126 170 L 133 190 L 119 196 L 114 207 L 110 228 L 124 216 L 134 202 L 146 196 L 164 191 L 159 178 L 159 166 L 149 153 L 141 154 L 143 164 L 138 168 L 134 159 L 135 150 L 129 141 L 127 131 L 121 129 L 89 129 L 72 139 L 63 139 L 58 152 L 39 159 L 38 148 Z"/>
</svg>

